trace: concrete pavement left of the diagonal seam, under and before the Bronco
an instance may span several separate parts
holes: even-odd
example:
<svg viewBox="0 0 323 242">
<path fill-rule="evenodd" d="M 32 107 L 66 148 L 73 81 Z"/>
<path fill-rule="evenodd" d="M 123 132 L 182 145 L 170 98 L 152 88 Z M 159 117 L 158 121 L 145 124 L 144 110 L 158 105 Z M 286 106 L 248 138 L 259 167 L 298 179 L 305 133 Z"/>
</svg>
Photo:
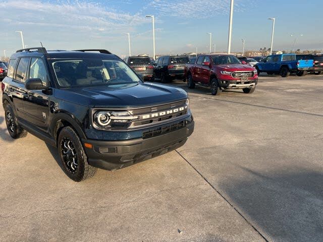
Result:
<svg viewBox="0 0 323 242">
<path fill-rule="evenodd" d="M 0 108 L 0 241 L 263 241 L 176 152 L 75 183 Z"/>
</svg>

